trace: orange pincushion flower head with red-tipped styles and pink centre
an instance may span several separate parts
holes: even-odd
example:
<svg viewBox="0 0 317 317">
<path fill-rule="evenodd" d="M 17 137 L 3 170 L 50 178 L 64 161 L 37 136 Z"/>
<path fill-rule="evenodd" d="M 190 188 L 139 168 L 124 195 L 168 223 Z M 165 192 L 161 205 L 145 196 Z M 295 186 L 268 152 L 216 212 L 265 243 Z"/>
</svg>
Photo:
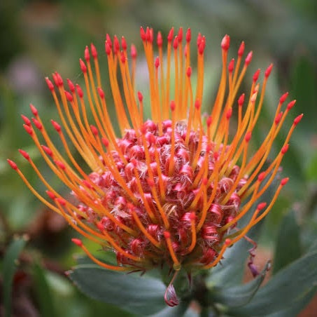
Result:
<svg viewBox="0 0 317 317">
<path fill-rule="evenodd" d="M 106 36 L 108 80 L 104 86 L 111 87 L 112 98 L 101 88 L 93 45 L 85 48 L 85 61 L 80 59 L 85 89 L 69 79 L 65 83 L 57 72 L 52 74 L 52 81 L 46 78 L 62 124 L 54 120 L 51 123 L 64 149 L 52 142 L 47 123 L 34 105 L 31 120 L 22 115 L 24 129 L 73 197 L 65 198 L 52 188 L 26 151 L 20 149 L 47 187 L 47 196 L 32 187 L 13 161 L 8 163 L 48 208 L 104 250 L 115 252 L 118 264 L 104 263 L 81 240 L 73 239 L 106 269 L 146 271 L 163 264 L 175 271 L 210 269 L 220 262 L 227 248 L 246 237 L 251 227 L 269 213 L 288 182 L 288 178 L 281 180 L 272 201 L 263 201 L 253 209 L 276 177 L 290 136 L 302 119 L 302 114 L 295 118 L 279 153 L 265 165 L 276 135 L 295 104 L 293 100 L 284 107 L 288 93 L 282 95 L 272 126 L 260 147 L 251 153 L 249 142 L 260 117 L 272 65 L 265 70 L 262 83 L 258 82 L 260 69 L 255 72 L 248 93 L 238 97 L 252 52 L 244 59 L 242 42 L 237 61 L 228 62 L 230 37 L 225 35 L 218 93 L 210 115 L 203 117 L 206 39 L 201 34 L 197 37 L 194 91 L 190 29 L 184 37 L 183 29 L 174 36 L 172 28 L 164 52 L 162 34 L 157 33 L 155 48 L 153 29 L 141 28 L 150 93 L 146 104 L 142 93 L 135 89 L 136 48 L 132 45 L 129 54 L 124 37 L 120 43 L 116 36 Z M 112 104 L 120 136 L 115 135 L 108 113 Z M 151 119 L 145 118 L 145 107 L 150 107 Z M 234 108 L 237 128 L 230 135 Z M 92 121 L 88 120 L 90 115 Z M 87 166 L 78 163 L 70 147 L 76 148 Z M 250 213 L 248 223 L 238 228 L 237 222 Z M 168 298 L 167 302 L 174 304 Z"/>
</svg>

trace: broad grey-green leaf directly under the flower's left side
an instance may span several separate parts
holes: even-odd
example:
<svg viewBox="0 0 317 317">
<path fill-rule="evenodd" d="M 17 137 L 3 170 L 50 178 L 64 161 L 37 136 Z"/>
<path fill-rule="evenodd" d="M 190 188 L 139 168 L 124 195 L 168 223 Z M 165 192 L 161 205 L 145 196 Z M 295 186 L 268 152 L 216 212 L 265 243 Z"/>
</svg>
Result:
<svg viewBox="0 0 317 317">
<path fill-rule="evenodd" d="M 69 277 L 85 295 L 137 315 L 146 316 L 166 308 L 166 286 L 155 278 L 108 271 L 96 264 L 78 265 Z"/>
</svg>

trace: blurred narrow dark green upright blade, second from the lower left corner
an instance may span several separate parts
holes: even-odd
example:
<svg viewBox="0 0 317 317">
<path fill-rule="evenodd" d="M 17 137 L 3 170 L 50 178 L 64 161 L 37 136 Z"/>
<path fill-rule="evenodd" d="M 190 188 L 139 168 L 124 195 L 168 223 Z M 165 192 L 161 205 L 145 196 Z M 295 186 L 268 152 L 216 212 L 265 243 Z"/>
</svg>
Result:
<svg viewBox="0 0 317 317">
<path fill-rule="evenodd" d="M 41 316 L 54 317 L 56 316 L 54 304 L 52 302 L 52 295 L 46 280 L 45 272 L 38 265 L 35 264 L 33 268 L 34 282 L 36 285 L 36 299 L 40 306 Z"/>
</svg>

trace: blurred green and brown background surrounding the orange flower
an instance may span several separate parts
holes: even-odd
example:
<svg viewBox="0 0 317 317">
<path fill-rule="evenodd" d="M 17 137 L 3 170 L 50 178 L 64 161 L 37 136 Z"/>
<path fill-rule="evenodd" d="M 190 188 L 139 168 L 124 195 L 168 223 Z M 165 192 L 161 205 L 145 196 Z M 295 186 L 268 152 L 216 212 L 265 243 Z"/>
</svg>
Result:
<svg viewBox="0 0 317 317">
<path fill-rule="evenodd" d="M 294 259 L 314 243 L 314 238 L 316 240 L 317 1 L 93 0 L 88 3 L 85 0 L 2 0 L 0 259 L 13 236 L 28 234 L 30 238 L 15 274 L 14 316 L 129 316 L 81 295 L 66 278 L 64 271 L 75 264 L 73 255 L 78 252 L 70 242 L 74 233 L 64 220 L 48 213 L 31 195 L 10 169 L 6 158 L 13 158 L 29 179 L 41 188 L 27 161 L 17 152 L 18 148 L 27 150 L 41 166 L 38 152 L 22 128 L 20 114 L 29 116 L 29 103 L 32 102 L 41 112 L 43 121 L 57 118 L 44 77 L 57 70 L 64 78 L 83 81 L 78 59 L 83 57 L 85 46 L 93 42 L 99 49 L 101 65 L 105 65 L 106 33 L 125 35 L 129 43 L 135 43 L 141 65 L 141 25 L 161 30 L 164 36 L 171 26 L 176 29 L 190 27 L 193 36 L 198 32 L 206 36 L 205 110 L 210 109 L 215 97 L 220 77 L 220 40 L 225 34 L 230 34 L 232 55 L 242 40 L 246 42 L 246 50 L 253 50 L 247 76 L 249 82 L 256 69 L 264 70 L 270 62 L 274 63 L 261 124 L 254 133 L 253 144 L 260 144 L 262 132 L 272 122 L 282 93 L 289 91 L 290 98 L 297 99 L 297 104 L 276 142 L 275 151 L 279 151 L 292 119 L 300 113 L 304 113 L 304 118 L 283 161 L 282 175 L 290 177 L 290 182 L 265 220 L 258 259 L 274 257 L 276 241 L 280 241 L 280 246 L 281 241 L 286 246 L 288 241 L 293 243 L 291 236 L 283 236 L 281 225 L 289 213 L 295 215 L 295 226 L 300 233 L 295 241 L 298 252 Z M 139 86 L 144 91 L 146 77 L 142 69 L 138 76 Z M 55 184 L 49 171 L 45 175 Z M 58 188 L 58 182 L 56 185 Z M 307 313 L 305 311 L 302 316 L 313 316 Z"/>
</svg>

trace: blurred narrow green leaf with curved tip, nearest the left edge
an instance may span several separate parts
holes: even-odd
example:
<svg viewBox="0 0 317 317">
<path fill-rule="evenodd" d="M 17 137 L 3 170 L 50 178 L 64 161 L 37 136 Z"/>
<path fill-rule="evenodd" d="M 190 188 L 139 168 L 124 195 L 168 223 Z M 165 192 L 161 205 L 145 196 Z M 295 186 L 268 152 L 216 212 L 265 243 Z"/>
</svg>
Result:
<svg viewBox="0 0 317 317">
<path fill-rule="evenodd" d="M 11 316 L 11 299 L 12 299 L 12 283 L 13 276 L 15 274 L 15 267 L 17 265 L 17 259 L 20 252 L 27 243 L 27 238 L 16 238 L 10 243 L 6 255 L 3 259 L 3 304 L 5 310 L 5 316 Z"/>
</svg>

